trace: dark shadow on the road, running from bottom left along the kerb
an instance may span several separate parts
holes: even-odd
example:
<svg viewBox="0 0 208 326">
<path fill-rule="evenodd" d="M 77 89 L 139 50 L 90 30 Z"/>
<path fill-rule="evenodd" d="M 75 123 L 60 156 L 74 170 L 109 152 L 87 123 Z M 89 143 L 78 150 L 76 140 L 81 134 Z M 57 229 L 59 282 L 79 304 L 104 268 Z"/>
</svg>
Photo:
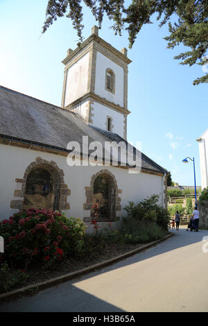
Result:
<svg viewBox="0 0 208 326">
<path fill-rule="evenodd" d="M 15 302 L 3 304 L 0 306 L 0 311 L 123 312 L 119 307 L 115 307 L 92 294 L 78 289 L 76 283 L 109 271 L 114 271 L 117 268 L 135 264 L 144 259 L 162 255 L 171 250 L 177 250 L 184 246 L 190 246 L 191 250 L 193 243 L 201 242 L 203 237 L 208 236 L 208 231 L 202 230 L 200 232 L 187 232 L 186 229 L 180 229 L 179 231 L 171 230 L 171 232 L 173 233 L 172 237 L 158 243 L 156 246 L 105 266 L 97 271 L 83 275 L 82 277 L 76 277 L 76 279 L 40 291 L 40 293 L 33 297 L 24 297 L 17 299 Z"/>
</svg>

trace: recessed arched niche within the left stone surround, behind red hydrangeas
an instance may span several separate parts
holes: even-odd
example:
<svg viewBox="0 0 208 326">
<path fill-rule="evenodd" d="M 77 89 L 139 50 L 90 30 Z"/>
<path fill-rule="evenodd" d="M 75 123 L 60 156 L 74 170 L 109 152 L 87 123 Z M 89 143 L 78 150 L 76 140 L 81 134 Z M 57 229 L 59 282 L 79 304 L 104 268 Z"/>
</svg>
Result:
<svg viewBox="0 0 208 326">
<path fill-rule="evenodd" d="M 23 208 L 57 209 L 55 184 L 52 173 L 46 167 L 33 169 L 26 180 Z"/>
</svg>

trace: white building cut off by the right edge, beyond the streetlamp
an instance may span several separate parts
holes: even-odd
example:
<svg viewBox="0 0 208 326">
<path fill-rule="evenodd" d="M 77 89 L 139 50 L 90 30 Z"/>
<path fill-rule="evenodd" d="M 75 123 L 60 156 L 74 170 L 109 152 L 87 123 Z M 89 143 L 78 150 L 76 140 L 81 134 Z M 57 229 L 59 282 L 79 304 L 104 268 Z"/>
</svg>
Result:
<svg viewBox="0 0 208 326">
<path fill-rule="evenodd" d="M 200 152 L 201 185 L 202 189 L 204 189 L 208 187 L 208 129 L 198 139 L 196 139 L 196 141 L 198 141 Z"/>
</svg>

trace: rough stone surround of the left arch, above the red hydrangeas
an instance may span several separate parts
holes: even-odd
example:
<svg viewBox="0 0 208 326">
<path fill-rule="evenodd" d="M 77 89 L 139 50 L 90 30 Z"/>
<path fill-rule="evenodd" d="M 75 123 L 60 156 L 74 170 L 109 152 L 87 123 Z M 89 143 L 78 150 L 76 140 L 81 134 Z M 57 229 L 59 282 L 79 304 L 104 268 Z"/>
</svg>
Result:
<svg viewBox="0 0 208 326">
<path fill-rule="evenodd" d="M 67 202 L 67 196 L 71 195 L 71 189 L 69 189 L 67 187 L 67 185 L 64 183 L 64 171 L 62 169 L 60 169 L 55 162 L 46 161 L 46 160 L 42 159 L 42 157 L 40 157 L 40 156 L 36 157 L 35 162 L 31 162 L 31 164 L 29 164 L 29 166 L 26 168 L 23 178 L 15 179 L 15 182 L 21 184 L 21 189 L 15 189 L 14 197 L 21 198 L 21 200 L 20 199 L 19 200 L 11 200 L 10 208 L 22 209 L 23 202 L 24 202 L 24 195 L 25 195 L 25 191 L 26 191 L 26 180 L 27 180 L 28 174 L 34 168 L 39 168 L 39 167 L 45 168 L 45 169 L 48 168 L 49 170 L 53 171 L 53 173 L 55 173 L 58 176 L 58 179 L 59 179 L 58 183 L 60 186 L 60 188 L 58 189 L 58 191 L 60 191 L 58 210 L 60 210 L 60 212 L 62 211 L 62 209 L 69 210 L 70 205 Z"/>
</svg>

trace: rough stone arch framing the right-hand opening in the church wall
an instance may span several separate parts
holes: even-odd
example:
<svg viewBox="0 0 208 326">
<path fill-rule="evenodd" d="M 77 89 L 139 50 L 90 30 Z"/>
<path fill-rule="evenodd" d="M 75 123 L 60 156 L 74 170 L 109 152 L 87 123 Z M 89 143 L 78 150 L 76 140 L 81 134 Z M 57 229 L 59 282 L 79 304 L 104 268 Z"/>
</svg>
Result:
<svg viewBox="0 0 208 326">
<path fill-rule="evenodd" d="M 96 178 L 100 176 L 105 176 L 110 180 L 110 205 L 112 205 L 112 207 L 110 216 L 108 216 L 108 218 L 98 218 L 98 221 L 117 221 L 119 219 L 116 213 L 121 211 L 121 198 L 119 197 L 119 194 L 122 193 L 122 190 L 118 189 L 115 176 L 107 169 L 103 169 L 92 175 L 89 187 L 85 187 L 86 202 L 84 203 L 83 208 L 85 210 L 90 210 L 90 216 L 84 218 L 85 222 L 92 220 L 92 213 L 94 212 L 94 209 L 92 209 L 94 205 L 94 182 Z"/>
</svg>

